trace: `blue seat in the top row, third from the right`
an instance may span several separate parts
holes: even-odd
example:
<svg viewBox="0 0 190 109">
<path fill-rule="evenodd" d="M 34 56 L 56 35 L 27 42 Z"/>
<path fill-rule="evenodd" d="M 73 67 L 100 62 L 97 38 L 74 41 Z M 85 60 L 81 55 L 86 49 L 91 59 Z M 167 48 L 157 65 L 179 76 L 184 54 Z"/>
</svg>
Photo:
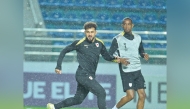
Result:
<svg viewBox="0 0 190 109">
<path fill-rule="evenodd" d="M 137 4 L 135 4 L 134 0 L 124 0 L 122 7 L 123 8 L 137 8 Z"/>
</svg>

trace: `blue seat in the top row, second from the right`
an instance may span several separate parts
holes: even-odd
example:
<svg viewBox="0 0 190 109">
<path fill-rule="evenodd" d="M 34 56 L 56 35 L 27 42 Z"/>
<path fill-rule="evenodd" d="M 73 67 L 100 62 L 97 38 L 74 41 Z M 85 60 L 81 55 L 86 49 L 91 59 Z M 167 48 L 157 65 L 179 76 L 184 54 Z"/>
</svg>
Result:
<svg viewBox="0 0 190 109">
<path fill-rule="evenodd" d="M 138 8 L 151 9 L 152 8 L 151 0 L 139 0 L 138 1 Z"/>
</svg>

